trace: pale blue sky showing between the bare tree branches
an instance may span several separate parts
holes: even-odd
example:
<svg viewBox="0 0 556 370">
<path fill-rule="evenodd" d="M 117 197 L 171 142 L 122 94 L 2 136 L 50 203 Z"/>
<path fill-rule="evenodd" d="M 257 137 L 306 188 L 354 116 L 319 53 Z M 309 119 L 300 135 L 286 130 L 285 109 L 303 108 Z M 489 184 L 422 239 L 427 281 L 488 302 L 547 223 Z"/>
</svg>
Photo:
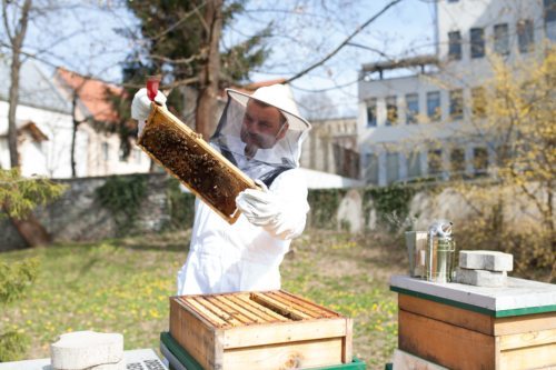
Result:
<svg viewBox="0 0 556 370">
<path fill-rule="evenodd" d="M 389 0 L 250 0 L 248 11 L 226 30 L 224 46 L 239 42 L 272 22 L 270 58 L 251 73 L 252 81 L 290 78 L 320 61 Z M 58 18 L 31 27 L 27 50 L 40 49 L 48 66 L 61 66 L 107 81 L 121 80 L 121 62 L 132 43 L 121 30 L 137 24 L 121 3 L 110 0 L 64 0 Z M 304 7 L 299 6 L 304 4 Z M 100 6 L 100 10 L 99 10 Z M 389 58 L 434 52 L 431 0 L 403 0 L 365 28 L 324 66 L 291 83 L 298 101 L 330 99 L 336 117 L 356 116 L 357 81 L 361 64 Z M 76 32 L 82 28 L 85 31 Z M 38 30 L 41 30 L 38 32 Z M 44 32 L 48 30 L 48 32 Z M 119 30 L 119 31 L 118 31 Z M 1 37 L 1 34 L 0 34 Z M 52 43 L 52 39 L 58 42 Z"/>
</svg>

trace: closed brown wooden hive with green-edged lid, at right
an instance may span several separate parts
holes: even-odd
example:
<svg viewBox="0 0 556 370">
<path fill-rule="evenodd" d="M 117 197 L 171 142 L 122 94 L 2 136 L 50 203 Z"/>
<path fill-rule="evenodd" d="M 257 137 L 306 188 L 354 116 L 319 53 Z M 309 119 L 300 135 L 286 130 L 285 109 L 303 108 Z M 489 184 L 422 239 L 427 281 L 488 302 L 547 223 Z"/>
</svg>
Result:
<svg viewBox="0 0 556 370">
<path fill-rule="evenodd" d="M 508 278 L 504 288 L 393 277 L 398 346 L 448 369 L 554 369 L 556 287 Z"/>
</svg>

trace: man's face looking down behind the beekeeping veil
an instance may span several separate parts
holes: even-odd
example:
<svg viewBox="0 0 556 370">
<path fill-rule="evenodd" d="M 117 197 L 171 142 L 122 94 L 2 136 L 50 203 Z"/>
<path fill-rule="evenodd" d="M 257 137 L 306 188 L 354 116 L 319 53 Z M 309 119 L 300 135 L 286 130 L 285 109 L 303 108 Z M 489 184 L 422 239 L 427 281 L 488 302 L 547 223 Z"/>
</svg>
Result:
<svg viewBox="0 0 556 370">
<path fill-rule="evenodd" d="M 286 136 L 287 130 L 288 123 L 277 108 L 249 100 L 240 133 L 246 152 L 252 151 L 254 156 L 257 149 L 272 148 Z"/>
</svg>

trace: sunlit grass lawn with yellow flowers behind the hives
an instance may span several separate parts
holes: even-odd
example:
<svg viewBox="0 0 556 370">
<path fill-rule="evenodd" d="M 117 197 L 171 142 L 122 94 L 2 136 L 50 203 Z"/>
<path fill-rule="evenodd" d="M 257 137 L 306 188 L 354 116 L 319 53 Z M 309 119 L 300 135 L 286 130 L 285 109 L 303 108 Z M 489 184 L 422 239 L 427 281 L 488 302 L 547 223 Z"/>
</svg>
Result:
<svg viewBox="0 0 556 370">
<path fill-rule="evenodd" d="M 77 330 L 121 332 L 126 349 L 157 349 L 188 244 L 188 232 L 173 232 L 2 253 L 7 261 L 38 257 L 40 273 L 23 299 L 2 307 L 0 332 L 26 332 L 27 359 L 49 357 L 57 336 Z M 291 249 L 282 288 L 354 318 L 355 354 L 384 369 L 397 346 L 388 279 L 405 272 L 401 242 L 309 230 Z"/>
</svg>

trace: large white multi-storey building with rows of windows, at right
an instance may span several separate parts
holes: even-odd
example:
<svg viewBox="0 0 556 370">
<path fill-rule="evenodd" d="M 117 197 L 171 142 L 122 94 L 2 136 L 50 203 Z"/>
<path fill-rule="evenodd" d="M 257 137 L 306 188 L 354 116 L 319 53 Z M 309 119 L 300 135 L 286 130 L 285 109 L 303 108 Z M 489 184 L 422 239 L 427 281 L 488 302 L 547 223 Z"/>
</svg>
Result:
<svg viewBox="0 0 556 370">
<path fill-rule="evenodd" d="M 555 0 L 438 0 L 435 10 L 436 54 L 361 68 L 357 126 L 367 183 L 488 173 L 495 143 L 476 124 L 488 56 L 513 63 L 556 40 Z"/>
</svg>

